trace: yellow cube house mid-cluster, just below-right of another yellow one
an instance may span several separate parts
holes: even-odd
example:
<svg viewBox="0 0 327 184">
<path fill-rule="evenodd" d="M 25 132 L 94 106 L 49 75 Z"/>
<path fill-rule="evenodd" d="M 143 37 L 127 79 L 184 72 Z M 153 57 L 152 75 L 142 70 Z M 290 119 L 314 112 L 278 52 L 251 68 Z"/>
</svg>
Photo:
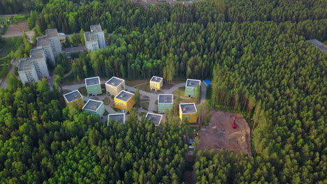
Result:
<svg viewBox="0 0 327 184">
<path fill-rule="evenodd" d="M 128 91 L 120 91 L 118 95 L 115 96 L 115 107 L 118 109 L 126 109 L 129 111 L 133 105 L 135 105 L 135 100 L 133 100 L 133 93 L 129 93 Z"/>
</svg>

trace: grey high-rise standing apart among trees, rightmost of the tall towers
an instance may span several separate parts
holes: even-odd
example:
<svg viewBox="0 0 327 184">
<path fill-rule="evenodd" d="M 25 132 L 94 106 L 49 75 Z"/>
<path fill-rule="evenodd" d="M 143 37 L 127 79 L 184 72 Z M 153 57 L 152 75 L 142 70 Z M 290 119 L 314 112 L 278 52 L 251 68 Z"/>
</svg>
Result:
<svg viewBox="0 0 327 184">
<path fill-rule="evenodd" d="M 106 47 L 106 39 L 100 24 L 89 26 L 91 31 L 84 33 L 87 50 L 94 51 Z"/>
</svg>

